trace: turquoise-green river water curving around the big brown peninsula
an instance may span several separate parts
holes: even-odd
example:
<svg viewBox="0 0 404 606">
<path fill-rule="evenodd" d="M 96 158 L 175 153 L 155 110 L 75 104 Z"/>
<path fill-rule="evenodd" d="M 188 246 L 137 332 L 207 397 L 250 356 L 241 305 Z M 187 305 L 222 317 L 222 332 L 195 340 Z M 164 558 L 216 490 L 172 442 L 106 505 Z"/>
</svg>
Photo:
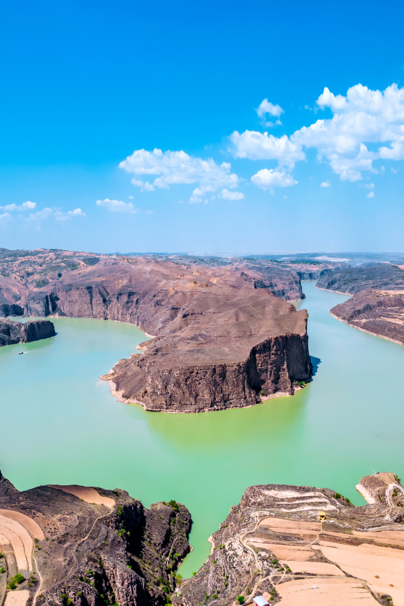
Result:
<svg viewBox="0 0 404 606">
<path fill-rule="evenodd" d="M 253 408 L 167 415 L 117 402 L 99 375 L 144 341 L 133 325 L 55 318 L 56 337 L 0 348 L 0 469 L 20 490 L 98 485 L 146 506 L 183 502 L 194 521 L 184 577 L 248 485 L 327 486 L 362 504 L 361 476 L 404 474 L 404 347 L 332 318 L 345 295 L 303 290 L 314 380 Z"/>
</svg>

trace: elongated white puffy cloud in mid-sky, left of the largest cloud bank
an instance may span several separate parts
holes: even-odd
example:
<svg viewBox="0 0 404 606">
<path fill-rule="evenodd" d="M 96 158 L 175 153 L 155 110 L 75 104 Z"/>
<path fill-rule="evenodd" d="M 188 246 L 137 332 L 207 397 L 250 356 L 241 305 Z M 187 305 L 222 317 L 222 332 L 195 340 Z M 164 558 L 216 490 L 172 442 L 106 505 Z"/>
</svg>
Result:
<svg viewBox="0 0 404 606">
<path fill-rule="evenodd" d="M 168 189 L 170 185 L 176 184 L 195 183 L 197 187 L 190 202 L 199 201 L 196 198 L 205 195 L 208 191 L 237 187 L 239 182 L 237 175 L 231 173 L 231 165 L 228 162 L 219 165 L 212 158 L 207 160 L 193 158 L 185 151 L 135 150 L 119 164 L 119 167 L 124 168 L 128 173 L 134 173 L 133 185 L 146 191 L 154 191 L 156 188 Z M 139 179 L 139 175 L 153 175 L 156 178 L 153 182 L 150 178 L 150 181 L 143 181 Z"/>
</svg>

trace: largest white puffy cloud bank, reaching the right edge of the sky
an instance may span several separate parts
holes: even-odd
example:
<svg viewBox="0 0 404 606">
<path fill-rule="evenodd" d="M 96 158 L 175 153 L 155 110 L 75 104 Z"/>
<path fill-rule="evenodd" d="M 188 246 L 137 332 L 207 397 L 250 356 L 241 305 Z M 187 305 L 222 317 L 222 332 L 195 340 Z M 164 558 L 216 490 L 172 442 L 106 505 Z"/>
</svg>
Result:
<svg viewBox="0 0 404 606">
<path fill-rule="evenodd" d="M 261 112 L 267 107 L 263 104 Z M 304 148 L 316 148 L 317 159 L 328 162 L 340 179 L 349 181 L 362 179 L 363 171 L 377 172 L 373 165 L 377 159 L 404 159 L 404 88 L 392 84 L 381 92 L 357 84 L 346 96 L 324 88 L 316 107 L 329 108 L 333 117 L 319 119 L 290 137 L 234 132 L 231 153 L 235 158 L 277 160 L 279 168 L 291 170 L 295 162 L 305 159 Z"/>
</svg>

